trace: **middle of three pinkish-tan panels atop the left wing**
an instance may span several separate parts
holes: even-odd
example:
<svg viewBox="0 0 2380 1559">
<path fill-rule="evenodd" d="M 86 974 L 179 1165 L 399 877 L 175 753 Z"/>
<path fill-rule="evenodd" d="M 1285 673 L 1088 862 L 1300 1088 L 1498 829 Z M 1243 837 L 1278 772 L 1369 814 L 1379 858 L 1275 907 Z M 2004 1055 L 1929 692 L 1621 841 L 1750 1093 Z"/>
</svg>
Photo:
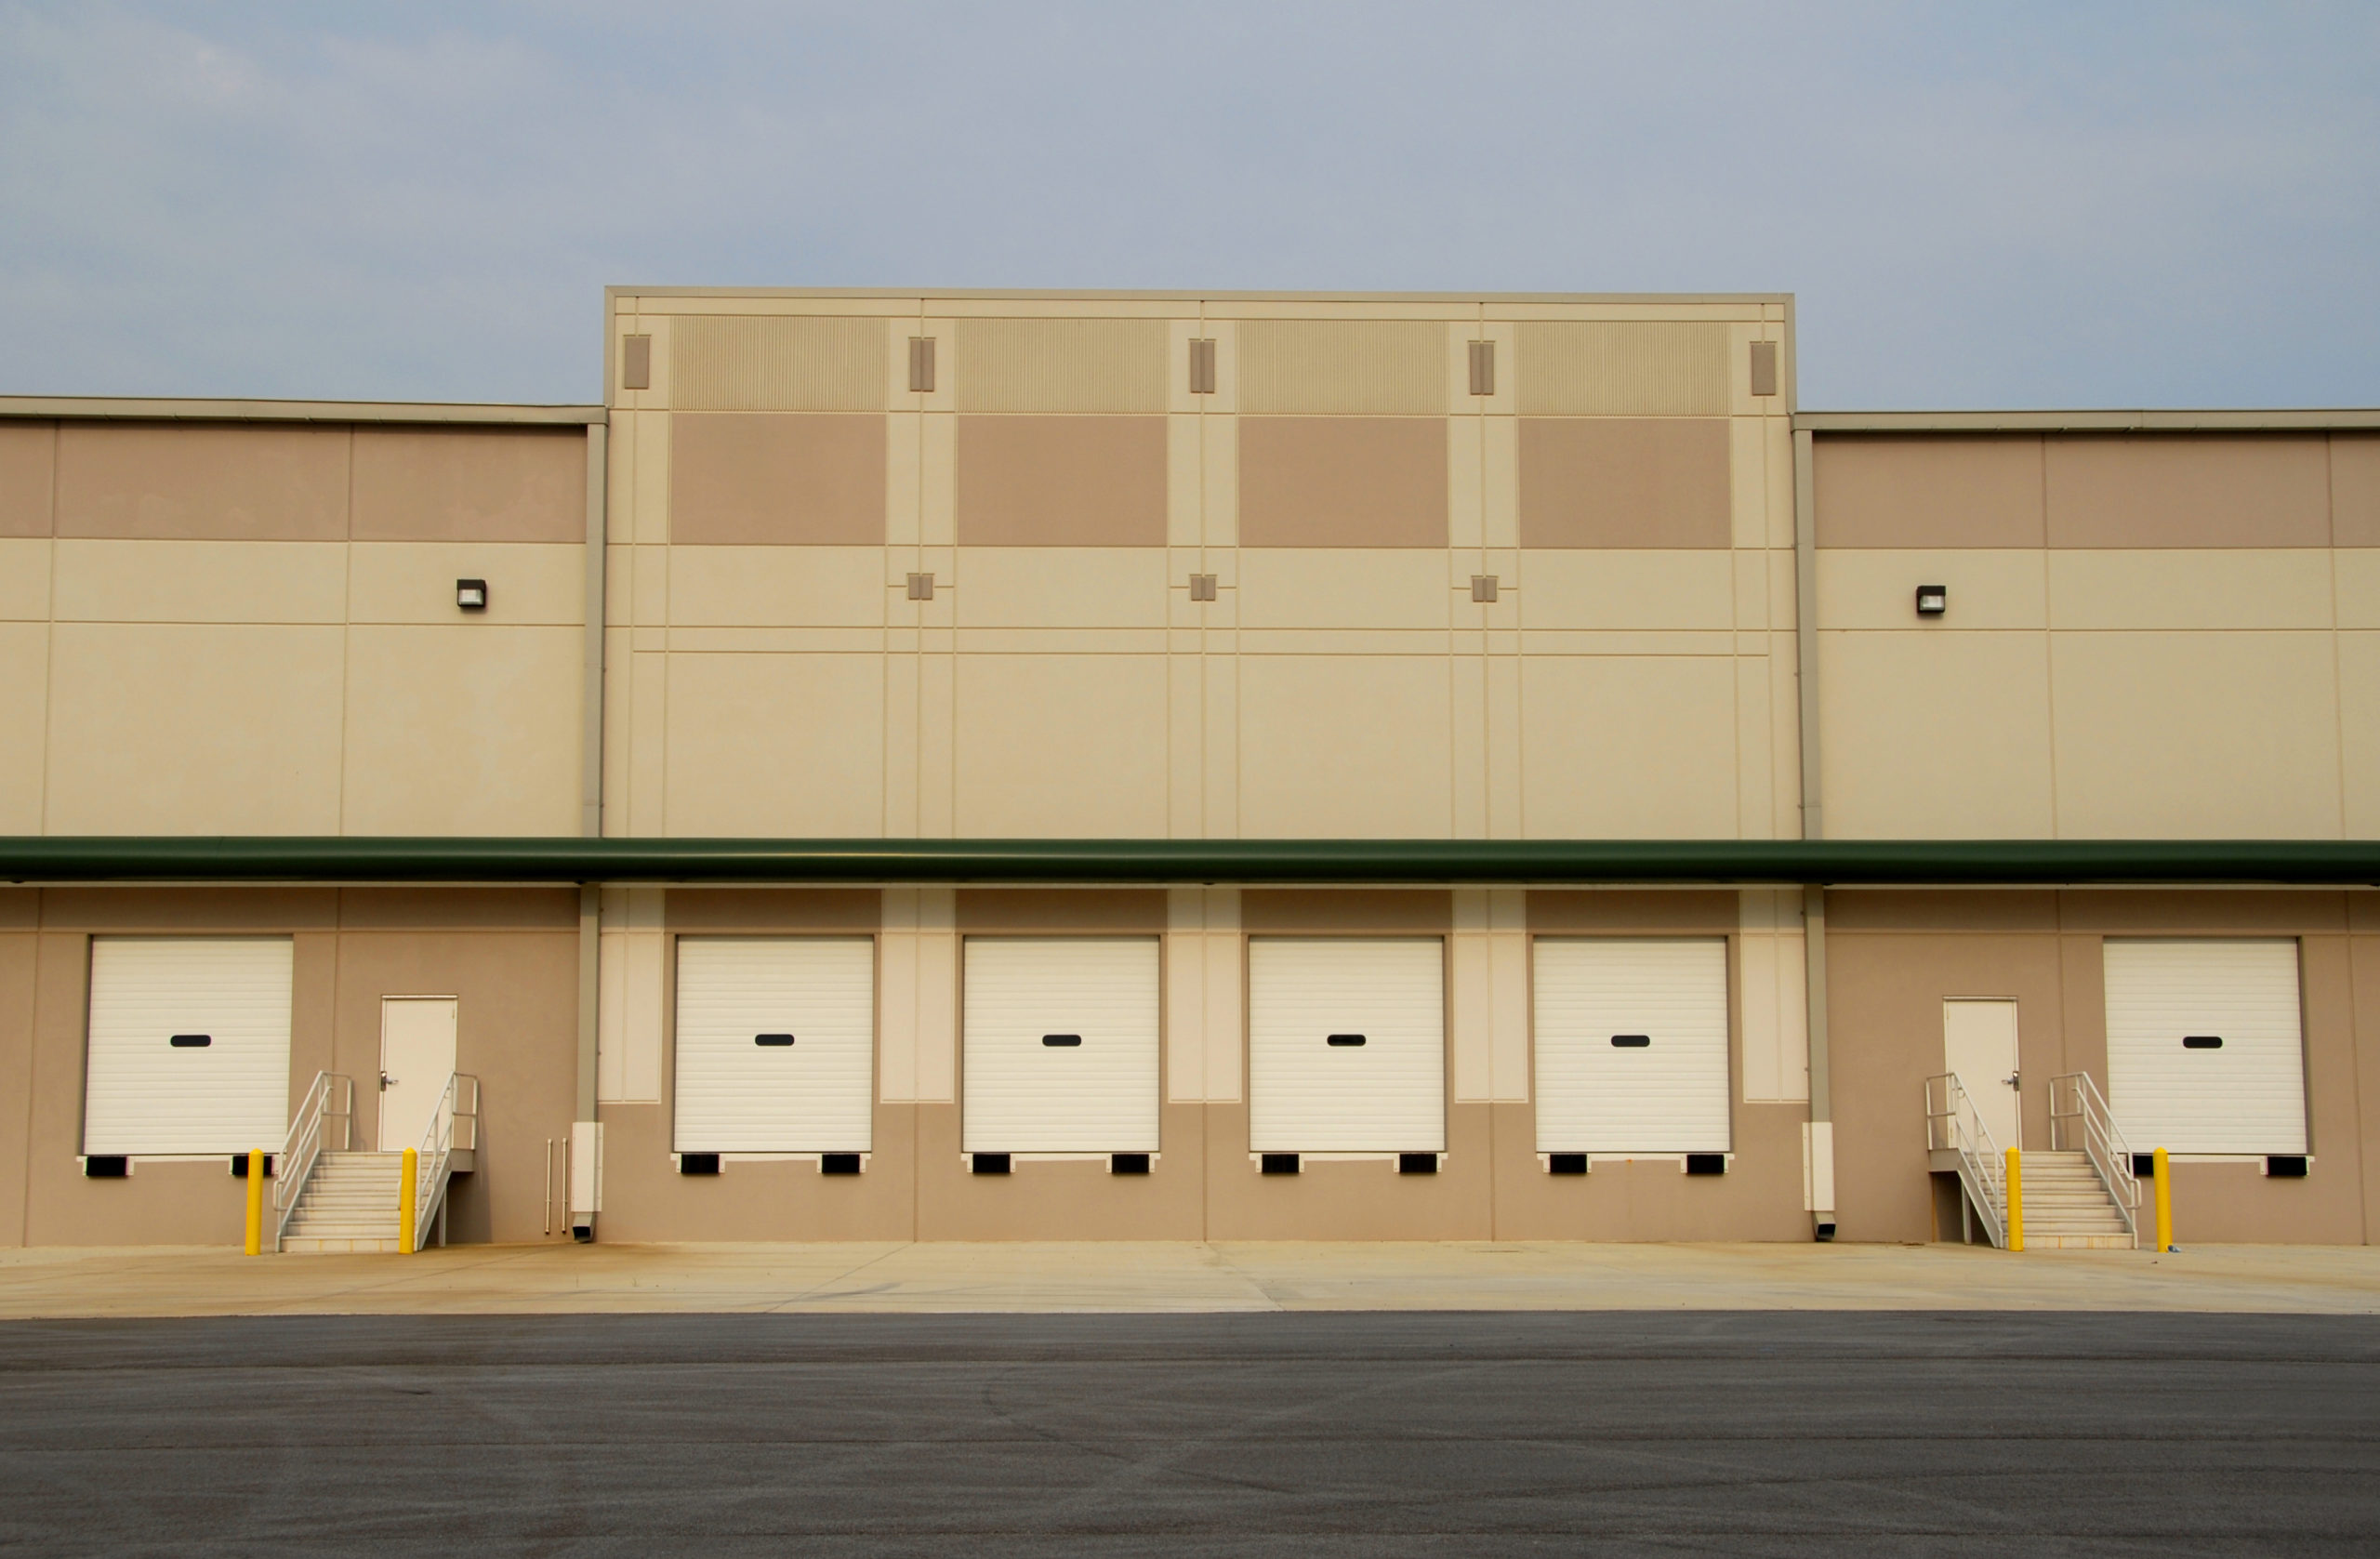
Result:
<svg viewBox="0 0 2380 1559">
<path fill-rule="evenodd" d="M 67 424 L 57 533 L 107 540 L 345 540 L 347 428 Z"/>
</svg>

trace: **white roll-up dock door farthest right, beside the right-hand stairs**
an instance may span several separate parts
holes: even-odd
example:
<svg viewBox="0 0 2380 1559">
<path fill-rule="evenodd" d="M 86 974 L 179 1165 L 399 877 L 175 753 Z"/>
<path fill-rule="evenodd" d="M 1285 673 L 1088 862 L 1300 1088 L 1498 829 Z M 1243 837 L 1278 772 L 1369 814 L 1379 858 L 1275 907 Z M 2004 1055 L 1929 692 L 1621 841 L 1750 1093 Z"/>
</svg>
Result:
<svg viewBox="0 0 2380 1559">
<path fill-rule="evenodd" d="M 2135 1152 L 2306 1152 L 2297 943 L 2109 938 L 2106 1107 Z"/>
</svg>

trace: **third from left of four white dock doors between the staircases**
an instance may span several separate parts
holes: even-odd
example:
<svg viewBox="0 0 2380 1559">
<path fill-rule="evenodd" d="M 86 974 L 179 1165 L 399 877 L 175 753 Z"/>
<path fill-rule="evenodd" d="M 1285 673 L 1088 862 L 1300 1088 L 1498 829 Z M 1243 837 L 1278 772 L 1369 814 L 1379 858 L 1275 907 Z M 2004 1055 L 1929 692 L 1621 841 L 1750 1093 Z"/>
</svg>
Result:
<svg viewBox="0 0 2380 1559">
<path fill-rule="evenodd" d="M 1250 938 L 1247 1090 L 1250 1152 L 1445 1152 L 1445 940 Z"/>
</svg>

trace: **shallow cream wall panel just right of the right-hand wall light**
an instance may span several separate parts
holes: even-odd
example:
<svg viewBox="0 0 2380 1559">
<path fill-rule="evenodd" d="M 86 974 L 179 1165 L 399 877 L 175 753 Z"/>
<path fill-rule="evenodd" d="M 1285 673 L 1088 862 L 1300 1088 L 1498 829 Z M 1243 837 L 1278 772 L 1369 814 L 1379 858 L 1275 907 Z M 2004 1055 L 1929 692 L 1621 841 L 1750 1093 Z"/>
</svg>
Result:
<svg viewBox="0 0 2380 1559">
<path fill-rule="evenodd" d="M 2054 628 L 2330 628 L 2330 552 L 2049 552 Z"/>
</svg>

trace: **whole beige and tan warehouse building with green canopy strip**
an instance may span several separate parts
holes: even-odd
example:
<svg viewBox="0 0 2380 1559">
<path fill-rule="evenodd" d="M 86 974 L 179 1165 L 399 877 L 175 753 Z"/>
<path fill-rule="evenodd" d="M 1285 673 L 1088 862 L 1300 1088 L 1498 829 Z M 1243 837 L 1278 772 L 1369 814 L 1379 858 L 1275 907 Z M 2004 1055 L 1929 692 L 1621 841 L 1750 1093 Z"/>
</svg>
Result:
<svg viewBox="0 0 2380 1559">
<path fill-rule="evenodd" d="M 262 1150 L 393 1250 L 405 1147 L 450 1240 L 2373 1238 L 2380 414 L 1806 414 L 1773 295 L 605 340 L 0 400 L 0 1242 Z"/>
</svg>

